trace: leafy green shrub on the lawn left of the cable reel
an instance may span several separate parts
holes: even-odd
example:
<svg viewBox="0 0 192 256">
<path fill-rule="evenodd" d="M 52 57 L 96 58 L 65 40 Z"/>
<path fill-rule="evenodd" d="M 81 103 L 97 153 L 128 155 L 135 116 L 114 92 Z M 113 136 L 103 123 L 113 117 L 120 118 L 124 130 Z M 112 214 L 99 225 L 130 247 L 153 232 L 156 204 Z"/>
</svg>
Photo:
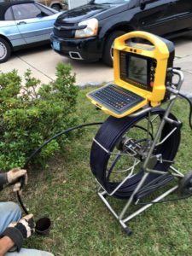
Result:
<svg viewBox="0 0 192 256">
<path fill-rule="evenodd" d="M 38 146 L 55 133 L 76 125 L 78 87 L 71 67 L 59 63 L 56 79 L 41 84 L 25 73 L 22 82 L 17 71 L 0 73 L 0 169 L 24 166 Z M 44 160 L 61 148 L 67 137 L 52 141 L 38 160 Z"/>
</svg>

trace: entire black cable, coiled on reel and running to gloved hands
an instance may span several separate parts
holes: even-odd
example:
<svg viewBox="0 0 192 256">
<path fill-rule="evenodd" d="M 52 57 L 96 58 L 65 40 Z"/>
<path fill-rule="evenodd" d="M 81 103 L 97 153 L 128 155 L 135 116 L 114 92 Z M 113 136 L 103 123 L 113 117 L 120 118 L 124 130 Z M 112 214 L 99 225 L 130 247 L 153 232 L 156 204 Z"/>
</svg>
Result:
<svg viewBox="0 0 192 256">
<path fill-rule="evenodd" d="M 186 99 L 189 102 L 190 105 L 190 112 L 189 112 L 189 126 L 192 129 L 192 123 L 191 123 L 191 117 L 192 117 L 192 102 L 189 100 L 189 98 L 187 96 L 184 96 L 182 93 L 178 93 L 179 96 L 182 96 L 184 99 Z M 160 109 L 160 108 L 154 108 L 151 113 L 157 113 L 160 114 L 161 116 L 165 113 L 164 110 Z M 174 117 L 172 114 L 170 114 L 170 117 L 174 120 L 177 120 L 176 117 Z M 140 118 L 145 118 L 144 115 L 140 116 Z M 74 126 L 72 128 L 68 128 L 65 131 L 61 131 L 57 134 L 55 134 L 54 137 L 50 137 L 47 141 L 45 141 L 37 150 L 35 150 L 30 156 L 29 158 L 26 160 L 26 164 L 24 166 L 24 168 L 27 168 L 29 162 L 33 159 L 33 157 L 35 157 L 36 154 L 38 154 L 42 148 L 44 148 L 48 143 L 50 143 L 52 140 L 56 139 L 57 137 L 60 137 L 63 134 L 66 134 L 69 131 L 73 131 L 76 129 L 80 129 L 83 128 L 85 126 L 91 126 L 91 125 L 102 125 L 101 129 L 97 132 L 96 134 L 96 140 L 99 141 L 100 143 L 102 143 L 102 145 L 105 145 L 108 150 L 113 150 L 115 144 L 117 143 L 119 137 L 122 136 L 122 134 L 128 130 L 131 125 L 134 125 L 134 123 L 137 123 L 138 118 L 129 118 L 126 117 L 124 119 L 115 119 L 113 117 L 109 117 L 104 124 L 102 125 L 102 122 L 96 122 L 96 123 L 88 123 L 88 124 L 83 124 L 83 125 L 77 125 Z M 110 125 L 114 125 L 113 129 L 111 130 Z M 122 127 L 121 127 L 122 126 Z M 137 125 L 135 125 L 137 126 Z M 122 129 L 121 129 L 122 128 Z M 163 131 L 163 136 L 165 136 L 165 134 L 168 134 L 170 129 L 173 129 L 173 127 L 171 127 L 170 125 L 167 126 L 167 124 L 164 127 L 164 131 Z M 106 131 L 105 131 L 106 130 Z M 175 134 L 173 137 L 171 136 L 168 140 L 167 143 L 163 145 L 163 148 L 159 148 L 160 152 L 163 153 L 164 157 L 166 160 L 173 160 L 175 155 L 177 154 L 177 148 L 179 146 L 180 143 L 180 130 L 176 131 L 177 134 Z M 167 148 L 170 148 L 172 150 L 167 150 Z M 102 157 L 101 157 L 102 154 Z M 90 167 L 91 170 L 93 172 L 93 174 L 96 176 L 96 178 L 98 179 L 98 181 L 102 184 L 102 186 L 108 190 L 108 192 L 110 193 L 111 191 L 113 191 L 114 188 L 116 188 L 116 186 L 118 185 L 118 183 L 109 183 L 108 182 L 108 176 L 106 176 L 106 166 L 108 164 L 108 154 L 104 154 L 103 151 L 101 151 L 101 148 L 98 148 L 98 145 L 96 143 L 92 144 L 92 148 L 90 151 Z M 170 166 L 170 164 L 166 163 L 165 164 L 158 164 L 157 166 L 155 166 L 156 170 L 160 170 L 160 171 L 166 171 L 168 169 L 168 167 Z M 108 177 L 108 178 L 107 178 Z M 120 191 L 117 191 L 114 196 L 118 197 L 118 198 L 127 198 L 131 195 L 132 191 L 136 188 L 137 183 L 141 180 L 141 178 L 143 177 L 143 170 L 141 170 L 140 172 L 137 173 L 137 175 L 134 178 L 131 178 L 128 180 L 127 183 L 125 183 L 125 185 L 122 187 L 122 189 L 120 189 Z M 167 180 L 171 180 L 171 177 L 167 176 L 166 177 Z M 157 183 L 155 184 L 153 181 L 156 180 Z M 23 182 L 21 182 L 23 185 Z M 161 183 L 158 183 L 158 177 L 155 174 L 150 174 L 148 177 L 148 181 L 147 184 L 153 185 L 153 188 L 150 187 L 151 189 L 156 189 L 158 186 L 161 185 Z M 146 185 L 146 184 L 145 184 Z M 137 194 L 136 199 L 139 199 L 141 197 L 143 197 L 145 195 L 145 192 L 148 191 L 148 185 L 147 186 L 143 186 L 143 191 L 140 191 Z M 163 183 L 162 183 L 163 185 Z M 145 189 L 146 187 L 146 189 Z M 22 207 L 22 209 L 24 210 L 24 212 L 26 212 L 26 214 L 28 214 L 28 210 L 26 209 L 25 204 L 23 203 L 20 193 L 17 192 L 17 197 L 18 197 L 18 201 L 20 202 L 20 206 Z M 185 199 L 186 197 L 183 197 L 181 199 Z M 169 200 L 167 200 L 169 201 Z M 172 200 L 175 201 L 175 200 Z M 141 204 L 146 204 L 146 203 L 141 203 Z"/>
</svg>

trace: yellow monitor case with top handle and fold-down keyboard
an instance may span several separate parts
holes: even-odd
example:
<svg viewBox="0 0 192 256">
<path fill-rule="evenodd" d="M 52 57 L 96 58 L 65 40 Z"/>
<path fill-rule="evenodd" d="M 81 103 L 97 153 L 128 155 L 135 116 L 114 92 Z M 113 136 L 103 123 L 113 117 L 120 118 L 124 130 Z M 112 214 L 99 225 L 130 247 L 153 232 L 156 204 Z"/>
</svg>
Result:
<svg viewBox="0 0 192 256">
<path fill-rule="evenodd" d="M 137 41 L 143 43 L 136 43 Z M 172 84 L 174 44 L 148 32 L 130 32 L 114 41 L 114 83 L 90 92 L 87 97 L 105 113 L 122 118 L 146 105 L 166 100 Z"/>
</svg>

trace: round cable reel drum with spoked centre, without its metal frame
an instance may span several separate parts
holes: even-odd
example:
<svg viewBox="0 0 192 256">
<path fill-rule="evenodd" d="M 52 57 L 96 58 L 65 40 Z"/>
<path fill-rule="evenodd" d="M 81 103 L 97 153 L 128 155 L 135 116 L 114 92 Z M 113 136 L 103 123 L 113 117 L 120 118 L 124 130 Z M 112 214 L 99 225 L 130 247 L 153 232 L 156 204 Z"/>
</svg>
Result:
<svg viewBox="0 0 192 256">
<path fill-rule="evenodd" d="M 151 112 L 151 116 L 158 118 L 158 121 L 160 121 L 164 113 L 163 109 L 158 108 Z M 131 172 L 131 168 L 137 167 L 135 168 L 137 173 L 134 172 L 134 175 L 128 178 L 113 194 L 117 198 L 128 199 L 143 177 L 143 160 L 148 154 L 148 147 L 150 147 L 153 139 L 152 134 L 147 138 L 147 130 L 140 131 L 144 127 L 139 124 L 145 125 L 148 122 L 146 117 L 148 118 L 146 113 L 136 118 L 116 119 L 110 116 L 97 132 L 92 144 L 90 151 L 91 170 L 96 180 L 108 191 L 108 194 L 112 193 L 113 189 L 121 183 L 121 179 Z M 173 115 L 172 119 L 177 120 Z M 160 135 L 160 141 L 169 135 L 173 129 L 174 125 L 166 124 Z M 145 137 L 141 137 L 142 135 L 145 135 Z M 166 162 L 152 159 L 150 162 L 151 167 L 153 166 L 155 170 L 166 172 L 177 154 L 179 143 L 180 130 L 177 130 L 175 134 L 173 133 L 164 143 L 154 149 L 155 154 L 160 155 L 161 159 L 166 159 Z M 117 176 L 120 180 L 113 175 L 113 172 L 119 172 Z M 120 172 L 122 172 L 122 175 L 120 175 Z M 151 173 L 146 183 L 158 176 L 158 174 Z"/>
</svg>

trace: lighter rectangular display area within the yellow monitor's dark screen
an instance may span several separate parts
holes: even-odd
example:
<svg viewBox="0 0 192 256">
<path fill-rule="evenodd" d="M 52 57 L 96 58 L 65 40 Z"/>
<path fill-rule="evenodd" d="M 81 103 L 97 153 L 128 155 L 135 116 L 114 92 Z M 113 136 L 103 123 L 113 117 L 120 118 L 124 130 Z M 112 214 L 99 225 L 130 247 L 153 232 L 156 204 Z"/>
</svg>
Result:
<svg viewBox="0 0 192 256">
<path fill-rule="evenodd" d="M 130 56 L 128 62 L 128 78 L 137 83 L 148 84 L 148 61 L 135 56 Z"/>
</svg>

